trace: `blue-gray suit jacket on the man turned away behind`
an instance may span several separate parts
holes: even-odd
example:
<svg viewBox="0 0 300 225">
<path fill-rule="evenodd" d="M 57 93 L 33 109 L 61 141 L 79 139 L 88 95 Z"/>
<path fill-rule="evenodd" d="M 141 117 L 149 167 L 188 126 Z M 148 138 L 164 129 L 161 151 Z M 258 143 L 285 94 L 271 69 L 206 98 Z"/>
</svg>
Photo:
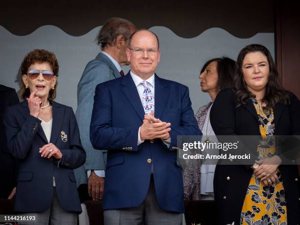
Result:
<svg viewBox="0 0 300 225">
<path fill-rule="evenodd" d="M 90 142 L 94 95 L 97 84 L 120 76 L 112 61 L 106 55 L 99 53 L 94 60 L 86 65 L 78 83 L 76 119 L 82 146 L 86 151 L 86 162 L 74 171 L 77 187 L 87 183 L 87 170 L 105 169 L 107 150 L 95 150 Z"/>
</svg>

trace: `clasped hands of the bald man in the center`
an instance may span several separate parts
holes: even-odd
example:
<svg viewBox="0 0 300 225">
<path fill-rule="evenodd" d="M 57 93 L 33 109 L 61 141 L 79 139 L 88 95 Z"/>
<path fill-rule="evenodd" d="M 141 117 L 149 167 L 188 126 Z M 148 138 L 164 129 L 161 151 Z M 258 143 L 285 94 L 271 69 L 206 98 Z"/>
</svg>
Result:
<svg viewBox="0 0 300 225">
<path fill-rule="evenodd" d="M 162 122 L 153 117 L 154 112 L 151 110 L 150 115 L 145 115 L 143 124 L 140 128 L 140 138 L 142 141 L 155 138 L 167 140 L 170 138 L 171 123 Z"/>
</svg>

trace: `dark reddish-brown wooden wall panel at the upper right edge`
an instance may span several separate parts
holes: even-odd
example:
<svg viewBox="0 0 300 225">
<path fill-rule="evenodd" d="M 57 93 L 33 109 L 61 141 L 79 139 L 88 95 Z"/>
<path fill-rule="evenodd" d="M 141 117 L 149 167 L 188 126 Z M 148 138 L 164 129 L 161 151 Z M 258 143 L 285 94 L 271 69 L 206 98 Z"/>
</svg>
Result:
<svg viewBox="0 0 300 225">
<path fill-rule="evenodd" d="M 276 63 L 282 85 L 300 99 L 300 11 L 297 1 L 276 1 Z M 300 115 L 299 115 L 300 116 Z"/>
</svg>

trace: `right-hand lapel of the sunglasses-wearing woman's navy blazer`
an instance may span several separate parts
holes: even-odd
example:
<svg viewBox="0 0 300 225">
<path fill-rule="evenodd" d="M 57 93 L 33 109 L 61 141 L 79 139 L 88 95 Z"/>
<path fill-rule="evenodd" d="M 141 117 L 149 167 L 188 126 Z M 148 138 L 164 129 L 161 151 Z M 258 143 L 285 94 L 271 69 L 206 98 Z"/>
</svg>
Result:
<svg viewBox="0 0 300 225">
<path fill-rule="evenodd" d="M 63 124 L 65 110 L 60 107 L 55 101 L 51 101 L 52 104 L 52 128 L 50 143 L 56 143 L 58 136 L 60 136 L 61 126 Z M 66 132 L 66 130 L 64 130 Z"/>
</svg>

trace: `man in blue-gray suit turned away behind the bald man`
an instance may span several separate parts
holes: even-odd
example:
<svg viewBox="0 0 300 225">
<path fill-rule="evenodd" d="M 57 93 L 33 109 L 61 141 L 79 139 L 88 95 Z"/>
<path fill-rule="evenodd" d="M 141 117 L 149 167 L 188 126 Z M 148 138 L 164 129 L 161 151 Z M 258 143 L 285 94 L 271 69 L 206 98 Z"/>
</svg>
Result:
<svg viewBox="0 0 300 225">
<path fill-rule="evenodd" d="M 121 66 L 129 64 L 126 49 L 135 30 L 135 26 L 125 19 L 108 19 L 97 36 L 102 51 L 86 65 L 78 83 L 76 119 L 82 146 L 86 150 L 85 164 L 74 171 L 77 187 L 83 184 L 78 187 L 81 201 L 89 199 L 88 193 L 93 200 L 100 200 L 103 195 L 106 150 L 95 150 L 90 142 L 95 88 L 99 83 L 124 75 Z"/>
</svg>

